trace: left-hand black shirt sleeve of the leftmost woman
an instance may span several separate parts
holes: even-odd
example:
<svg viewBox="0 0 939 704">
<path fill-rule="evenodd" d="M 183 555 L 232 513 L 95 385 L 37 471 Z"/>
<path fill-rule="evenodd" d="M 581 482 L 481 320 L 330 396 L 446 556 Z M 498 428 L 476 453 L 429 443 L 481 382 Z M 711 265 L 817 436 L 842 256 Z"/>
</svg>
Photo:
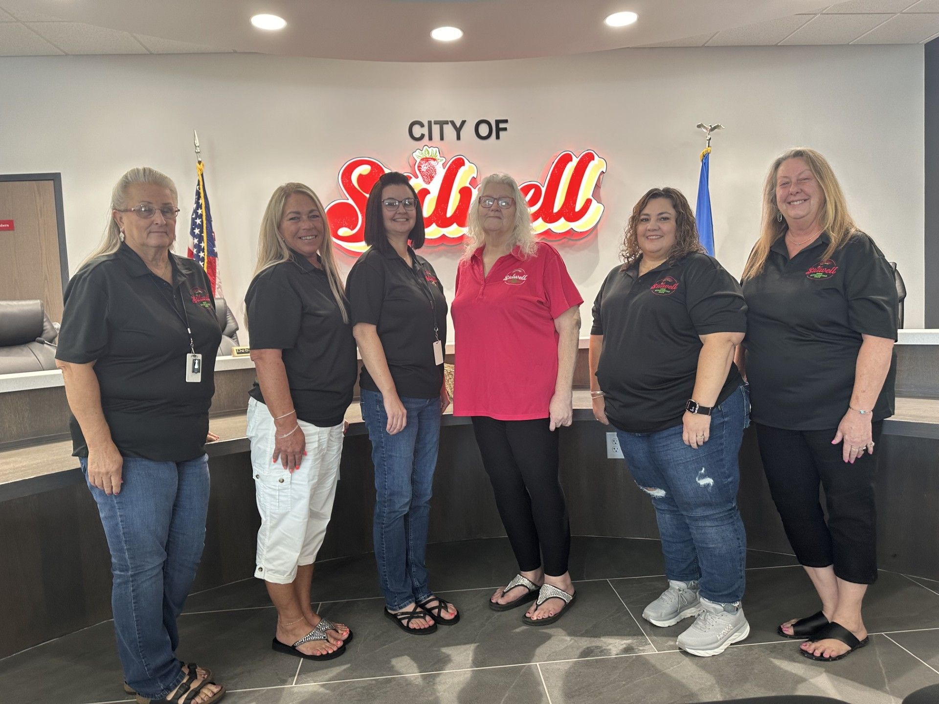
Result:
<svg viewBox="0 0 939 704">
<path fill-rule="evenodd" d="M 107 279 L 100 268 L 78 271 L 65 292 L 55 359 L 74 364 L 100 360 L 110 338 Z"/>
</svg>

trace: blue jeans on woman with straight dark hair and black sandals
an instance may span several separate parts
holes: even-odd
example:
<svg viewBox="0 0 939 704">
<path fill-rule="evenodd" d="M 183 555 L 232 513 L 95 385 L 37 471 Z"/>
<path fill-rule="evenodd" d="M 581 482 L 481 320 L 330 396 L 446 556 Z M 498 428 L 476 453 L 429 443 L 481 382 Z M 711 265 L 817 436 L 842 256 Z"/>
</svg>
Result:
<svg viewBox="0 0 939 704">
<path fill-rule="evenodd" d="M 390 436 L 381 393 L 362 389 L 375 465 L 375 559 L 385 605 L 397 611 L 431 596 L 424 554 L 440 439 L 440 399 L 401 397 L 408 424 Z"/>
</svg>

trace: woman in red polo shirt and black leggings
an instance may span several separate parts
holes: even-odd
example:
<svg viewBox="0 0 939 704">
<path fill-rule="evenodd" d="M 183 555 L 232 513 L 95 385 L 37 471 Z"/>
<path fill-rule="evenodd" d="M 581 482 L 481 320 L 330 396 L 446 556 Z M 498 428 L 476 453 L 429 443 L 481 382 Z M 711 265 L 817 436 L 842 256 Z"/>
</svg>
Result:
<svg viewBox="0 0 939 704">
<path fill-rule="evenodd" d="M 574 600 L 558 434 L 571 424 L 583 302 L 561 255 L 535 241 L 511 176 L 486 176 L 456 270 L 454 415 L 471 416 L 518 574 L 489 600 L 546 625 Z M 544 557 L 544 564 L 542 558 Z"/>
</svg>

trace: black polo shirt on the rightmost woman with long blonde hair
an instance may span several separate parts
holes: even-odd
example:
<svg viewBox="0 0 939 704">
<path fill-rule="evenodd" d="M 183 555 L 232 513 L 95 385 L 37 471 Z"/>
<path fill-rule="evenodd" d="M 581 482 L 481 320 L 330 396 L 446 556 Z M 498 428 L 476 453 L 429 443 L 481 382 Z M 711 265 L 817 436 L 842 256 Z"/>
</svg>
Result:
<svg viewBox="0 0 939 704">
<path fill-rule="evenodd" d="M 744 282 L 747 380 L 754 421 L 786 430 L 837 428 L 854 390 L 861 335 L 897 339 L 897 285 L 873 240 L 851 237 L 819 261 L 827 234 L 792 259 L 780 237 Z M 893 415 L 897 356 L 873 420 Z"/>
</svg>

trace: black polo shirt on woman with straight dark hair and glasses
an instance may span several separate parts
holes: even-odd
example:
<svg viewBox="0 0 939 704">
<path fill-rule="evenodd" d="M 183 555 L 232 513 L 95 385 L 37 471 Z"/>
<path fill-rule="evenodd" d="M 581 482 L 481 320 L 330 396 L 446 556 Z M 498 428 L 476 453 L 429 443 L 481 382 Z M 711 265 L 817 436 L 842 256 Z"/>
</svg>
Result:
<svg viewBox="0 0 939 704">
<path fill-rule="evenodd" d="M 352 324 L 376 326 L 398 395 L 434 398 L 443 385 L 443 365 L 434 363 L 434 326 L 447 344 L 447 299 L 430 263 L 409 247 L 408 253 L 413 267 L 392 249 L 362 254 L 349 271 L 346 294 Z M 378 390 L 364 364 L 359 385 Z"/>
</svg>

